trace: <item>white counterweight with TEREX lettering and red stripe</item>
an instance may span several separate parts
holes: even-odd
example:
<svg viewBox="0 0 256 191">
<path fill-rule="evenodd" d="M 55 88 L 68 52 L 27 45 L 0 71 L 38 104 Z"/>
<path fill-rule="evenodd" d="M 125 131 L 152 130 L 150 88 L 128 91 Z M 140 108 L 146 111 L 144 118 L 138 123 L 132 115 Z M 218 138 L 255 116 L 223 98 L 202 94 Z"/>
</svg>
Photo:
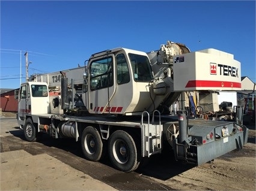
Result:
<svg viewBox="0 0 256 191">
<path fill-rule="evenodd" d="M 174 57 L 174 91 L 240 90 L 240 62 L 213 48 Z"/>
</svg>

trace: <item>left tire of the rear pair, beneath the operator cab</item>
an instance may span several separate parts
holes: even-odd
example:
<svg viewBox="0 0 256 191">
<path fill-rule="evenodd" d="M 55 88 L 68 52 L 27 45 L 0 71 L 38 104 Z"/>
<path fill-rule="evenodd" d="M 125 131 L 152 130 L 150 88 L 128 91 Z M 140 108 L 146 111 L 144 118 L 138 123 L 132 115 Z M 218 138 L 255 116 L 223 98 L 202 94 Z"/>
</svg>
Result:
<svg viewBox="0 0 256 191">
<path fill-rule="evenodd" d="M 84 129 L 81 138 L 85 159 L 98 161 L 102 157 L 103 143 L 99 132 L 91 126 Z"/>
</svg>

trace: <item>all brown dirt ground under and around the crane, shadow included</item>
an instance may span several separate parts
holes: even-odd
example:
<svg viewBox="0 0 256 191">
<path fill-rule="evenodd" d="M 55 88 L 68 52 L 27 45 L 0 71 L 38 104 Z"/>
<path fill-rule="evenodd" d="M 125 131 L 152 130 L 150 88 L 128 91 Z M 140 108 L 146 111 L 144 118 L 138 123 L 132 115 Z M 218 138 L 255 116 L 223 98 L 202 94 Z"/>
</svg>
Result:
<svg viewBox="0 0 256 191">
<path fill-rule="evenodd" d="M 23 148 L 33 155 L 46 153 L 117 190 L 256 190 L 255 124 L 247 127 L 249 138 L 243 149 L 231 151 L 211 163 L 190 166 L 176 162 L 168 152 L 150 157 L 143 168 L 127 174 L 112 168 L 109 161 L 83 159 L 76 143 L 48 139 L 41 143 L 23 141 L 17 126 L 10 131 L 15 138 L 2 137 L 1 152 L 8 145 L 9 150 Z"/>
</svg>

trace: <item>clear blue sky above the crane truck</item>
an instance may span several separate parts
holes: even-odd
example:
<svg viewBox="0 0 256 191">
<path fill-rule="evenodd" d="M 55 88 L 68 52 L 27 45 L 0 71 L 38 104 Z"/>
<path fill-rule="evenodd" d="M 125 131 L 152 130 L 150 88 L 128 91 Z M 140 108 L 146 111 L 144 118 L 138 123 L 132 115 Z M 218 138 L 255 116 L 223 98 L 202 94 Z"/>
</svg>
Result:
<svg viewBox="0 0 256 191">
<path fill-rule="evenodd" d="M 158 50 L 168 40 L 234 54 L 242 76 L 256 81 L 255 1 L 1 1 L 0 88 L 25 81 L 26 51 L 30 76 L 76 68 L 110 48 Z"/>
</svg>

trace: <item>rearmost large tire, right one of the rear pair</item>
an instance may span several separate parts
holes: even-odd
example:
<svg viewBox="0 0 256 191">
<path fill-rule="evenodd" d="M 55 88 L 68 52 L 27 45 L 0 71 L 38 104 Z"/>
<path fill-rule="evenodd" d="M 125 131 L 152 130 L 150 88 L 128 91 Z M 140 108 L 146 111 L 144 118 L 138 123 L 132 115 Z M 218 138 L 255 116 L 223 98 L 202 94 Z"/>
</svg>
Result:
<svg viewBox="0 0 256 191">
<path fill-rule="evenodd" d="M 133 138 L 125 131 L 115 131 L 108 144 L 109 158 L 115 168 L 124 172 L 138 168 L 138 155 Z"/>
</svg>

